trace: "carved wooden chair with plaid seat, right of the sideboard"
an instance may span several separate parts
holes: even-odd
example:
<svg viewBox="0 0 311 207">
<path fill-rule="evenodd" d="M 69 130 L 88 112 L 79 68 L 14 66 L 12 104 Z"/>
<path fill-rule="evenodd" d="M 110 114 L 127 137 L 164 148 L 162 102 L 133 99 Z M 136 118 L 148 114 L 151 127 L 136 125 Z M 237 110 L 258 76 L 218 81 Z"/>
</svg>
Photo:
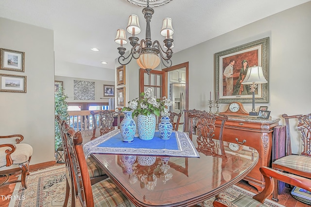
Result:
<svg viewBox="0 0 311 207">
<path fill-rule="evenodd" d="M 283 114 L 282 117 L 285 119 L 286 125 L 286 154 L 284 157 L 276 159 L 272 163 L 272 168 L 311 179 L 311 114 L 294 116 Z M 292 120 L 291 123 L 295 121 L 294 128 L 300 132 L 299 134 L 301 138 L 291 138 L 290 120 Z M 301 155 L 292 154 L 291 139 L 302 141 Z M 275 185 L 276 188 L 273 191 L 273 200 L 278 201 L 277 180 L 275 180 Z"/>
</svg>

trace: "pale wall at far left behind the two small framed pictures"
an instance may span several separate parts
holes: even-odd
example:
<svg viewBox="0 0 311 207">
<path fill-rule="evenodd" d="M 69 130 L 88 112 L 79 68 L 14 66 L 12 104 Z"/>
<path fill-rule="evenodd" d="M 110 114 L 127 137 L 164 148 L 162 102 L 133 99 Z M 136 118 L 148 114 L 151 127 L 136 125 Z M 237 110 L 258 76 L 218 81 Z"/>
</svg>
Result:
<svg viewBox="0 0 311 207">
<path fill-rule="evenodd" d="M 0 92 L 0 135 L 22 134 L 30 164 L 54 160 L 53 31 L 1 17 L 0 28 L 1 48 L 25 52 L 25 72 L 0 73 L 27 76 L 27 93 Z"/>
</svg>

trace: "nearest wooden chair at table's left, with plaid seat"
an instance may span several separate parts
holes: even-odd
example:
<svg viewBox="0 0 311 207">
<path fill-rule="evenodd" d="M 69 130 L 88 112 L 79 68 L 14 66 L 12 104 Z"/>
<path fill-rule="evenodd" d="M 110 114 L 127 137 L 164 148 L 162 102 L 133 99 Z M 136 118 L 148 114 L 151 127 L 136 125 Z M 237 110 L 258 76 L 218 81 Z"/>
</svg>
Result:
<svg viewBox="0 0 311 207">
<path fill-rule="evenodd" d="M 61 123 L 63 131 L 66 131 L 66 122 Z M 72 132 L 72 129 L 69 129 Z M 121 193 L 110 178 L 91 185 L 89 173 L 87 172 L 86 158 L 82 147 L 81 132 L 65 134 L 67 139 L 68 155 L 67 177 L 68 187 L 71 187 L 71 206 L 83 207 L 135 207 L 128 198 Z M 66 190 L 69 194 L 69 190 Z M 65 201 L 66 202 L 66 201 Z M 65 205 L 65 204 L 64 204 Z"/>
</svg>

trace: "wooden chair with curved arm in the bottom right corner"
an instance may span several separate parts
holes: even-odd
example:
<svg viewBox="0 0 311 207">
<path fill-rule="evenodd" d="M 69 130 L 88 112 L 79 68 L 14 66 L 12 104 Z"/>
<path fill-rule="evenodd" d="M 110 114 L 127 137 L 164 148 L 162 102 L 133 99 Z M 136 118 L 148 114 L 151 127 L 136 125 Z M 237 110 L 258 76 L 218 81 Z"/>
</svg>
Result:
<svg viewBox="0 0 311 207">
<path fill-rule="evenodd" d="M 259 168 L 260 173 L 265 179 L 265 188 L 252 197 L 241 194 L 234 201 L 228 201 L 224 198 L 217 197 L 213 202 L 214 207 L 266 207 L 263 203 L 265 199 L 272 194 L 275 188 L 275 180 L 288 183 L 293 186 L 311 191 L 311 180 L 305 177 L 290 173 L 282 173 L 268 167 Z"/>
</svg>

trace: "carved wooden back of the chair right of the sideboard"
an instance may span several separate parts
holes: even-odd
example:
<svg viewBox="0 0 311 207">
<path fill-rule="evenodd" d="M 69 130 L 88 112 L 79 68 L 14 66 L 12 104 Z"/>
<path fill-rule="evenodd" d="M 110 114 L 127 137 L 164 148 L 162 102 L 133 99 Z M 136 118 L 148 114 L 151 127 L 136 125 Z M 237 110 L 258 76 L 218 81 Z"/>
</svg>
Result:
<svg viewBox="0 0 311 207">
<path fill-rule="evenodd" d="M 301 134 L 303 150 L 301 155 L 311 156 L 311 113 L 307 115 L 288 116 L 283 114 L 286 124 L 286 155 L 292 155 L 290 119 L 296 119 L 296 127 Z"/>
</svg>

